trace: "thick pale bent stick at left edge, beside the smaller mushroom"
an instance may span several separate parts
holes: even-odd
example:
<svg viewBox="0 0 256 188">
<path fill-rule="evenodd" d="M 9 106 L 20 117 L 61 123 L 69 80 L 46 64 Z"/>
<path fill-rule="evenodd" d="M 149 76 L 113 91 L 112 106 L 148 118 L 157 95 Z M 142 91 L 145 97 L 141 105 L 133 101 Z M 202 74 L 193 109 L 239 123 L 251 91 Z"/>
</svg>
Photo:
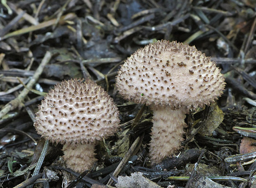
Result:
<svg viewBox="0 0 256 188">
<path fill-rule="evenodd" d="M 40 75 L 43 72 L 43 69 L 44 69 L 45 65 L 47 65 L 47 63 L 50 61 L 51 57 L 52 57 L 52 53 L 47 51 L 45 53 L 45 56 L 44 56 L 41 64 L 38 66 L 35 74 L 31 78 L 31 80 L 28 82 L 28 84 L 27 84 L 28 88 L 32 88 L 33 85 L 36 84 L 37 80 L 39 79 Z M 29 92 L 29 90 L 27 88 L 24 88 L 17 98 L 15 98 L 14 100 L 5 104 L 5 106 L 0 111 L 0 119 L 5 114 L 7 114 L 9 111 L 14 110 L 15 108 L 17 108 L 24 101 L 24 98 L 26 97 L 26 95 L 28 95 L 28 92 Z"/>
</svg>

